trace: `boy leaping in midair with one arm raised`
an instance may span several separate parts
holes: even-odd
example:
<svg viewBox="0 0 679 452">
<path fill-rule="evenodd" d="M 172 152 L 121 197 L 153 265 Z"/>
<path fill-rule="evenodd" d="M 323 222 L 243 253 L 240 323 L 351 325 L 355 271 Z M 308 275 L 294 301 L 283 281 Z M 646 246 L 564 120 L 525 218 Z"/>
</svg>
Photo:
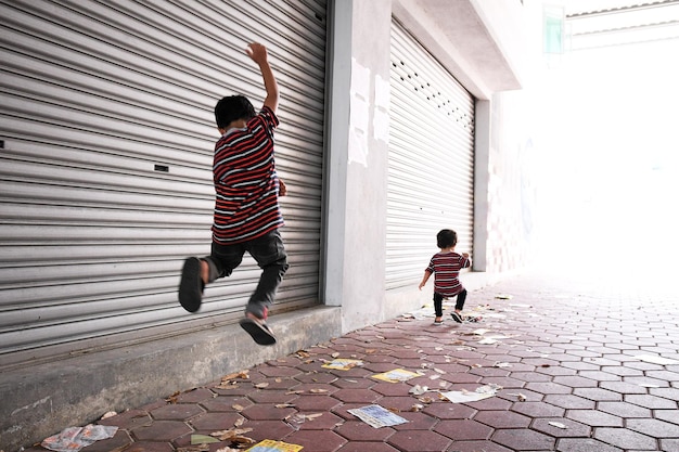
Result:
<svg viewBox="0 0 679 452">
<path fill-rule="evenodd" d="M 273 159 L 279 89 L 267 49 L 253 42 L 245 53 L 259 66 L 267 95 L 258 114 L 243 95 L 226 96 L 215 106 L 221 138 L 215 145 L 213 165 L 216 199 L 212 251 L 184 261 L 179 302 L 189 312 L 197 311 L 205 285 L 229 276 L 247 251 L 261 268 L 261 275 L 240 325 L 257 344 L 273 345 L 276 337 L 266 323 L 268 307 L 289 267 L 279 232 L 283 216 L 278 198 L 285 194 L 285 188 Z"/>
</svg>

